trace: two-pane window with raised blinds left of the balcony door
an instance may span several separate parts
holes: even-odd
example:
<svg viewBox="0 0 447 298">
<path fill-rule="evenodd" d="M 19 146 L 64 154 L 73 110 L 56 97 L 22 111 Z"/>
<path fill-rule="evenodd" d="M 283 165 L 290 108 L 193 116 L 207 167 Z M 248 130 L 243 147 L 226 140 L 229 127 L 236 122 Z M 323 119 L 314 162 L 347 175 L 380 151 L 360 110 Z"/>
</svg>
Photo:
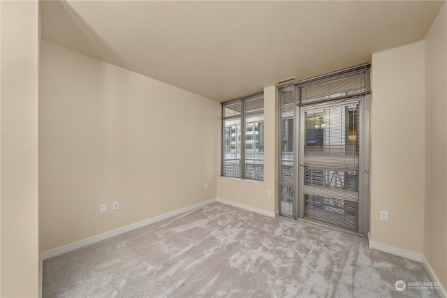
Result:
<svg viewBox="0 0 447 298">
<path fill-rule="evenodd" d="M 263 92 L 222 103 L 222 119 L 222 176 L 263 180 Z"/>
</svg>

